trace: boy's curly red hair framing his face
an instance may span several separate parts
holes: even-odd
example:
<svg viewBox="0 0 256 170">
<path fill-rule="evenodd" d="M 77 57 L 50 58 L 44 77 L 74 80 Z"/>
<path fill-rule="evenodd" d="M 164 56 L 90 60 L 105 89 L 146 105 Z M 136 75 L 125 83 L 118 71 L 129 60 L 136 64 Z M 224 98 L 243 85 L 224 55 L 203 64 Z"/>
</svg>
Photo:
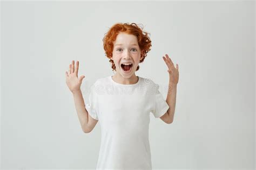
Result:
<svg viewBox="0 0 256 170">
<path fill-rule="evenodd" d="M 114 24 L 109 31 L 107 31 L 107 33 L 105 33 L 104 38 L 103 38 L 103 47 L 105 50 L 105 55 L 107 58 L 111 58 L 112 57 L 112 52 L 113 52 L 113 41 L 116 40 L 118 34 L 120 32 L 124 32 L 127 34 L 132 34 L 134 36 L 136 36 L 138 38 L 138 44 L 140 47 L 140 50 L 143 52 L 143 58 L 142 60 L 140 60 L 139 62 L 143 62 L 144 59 L 147 56 L 147 53 L 151 50 L 150 47 L 151 45 L 151 40 L 148 36 L 148 34 L 145 31 L 142 31 L 143 27 L 139 27 L 139 24 L 135 24 L 135 23 L 116 23 Z M 109 62 L 112 63 L 112 70 L 116 70 L 116 66 L 114 65 L 114 61 L 113 60 L 109 60 Z M 136 71 L 139 70 L 139 66 L 137 67 Z"/>
</svg>

